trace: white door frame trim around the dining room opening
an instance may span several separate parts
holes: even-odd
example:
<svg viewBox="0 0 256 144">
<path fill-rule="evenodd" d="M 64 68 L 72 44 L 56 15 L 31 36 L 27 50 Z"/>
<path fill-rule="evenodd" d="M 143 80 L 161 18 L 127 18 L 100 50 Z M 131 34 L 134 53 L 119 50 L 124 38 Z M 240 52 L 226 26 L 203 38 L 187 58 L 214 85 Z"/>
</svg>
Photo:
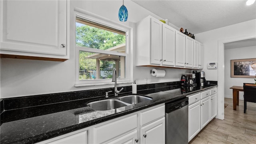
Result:
<svg viewBox="0 0 256 144">
<path fill-rule="evenodd" d="M 256 36 L 239 36 L 218 40 L 218 119 L 224 120 L 224 44 L 250 39 L 256 39 Z"/>
</svg>

